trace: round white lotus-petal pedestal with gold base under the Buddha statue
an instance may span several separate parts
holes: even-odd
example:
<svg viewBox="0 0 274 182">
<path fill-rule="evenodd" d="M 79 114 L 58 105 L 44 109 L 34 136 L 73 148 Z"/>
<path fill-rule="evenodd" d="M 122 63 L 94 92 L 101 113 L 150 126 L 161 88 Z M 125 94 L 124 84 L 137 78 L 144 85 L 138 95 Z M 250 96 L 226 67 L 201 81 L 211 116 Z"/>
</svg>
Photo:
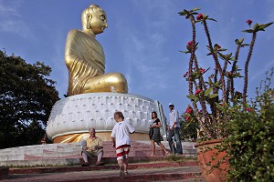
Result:
<svg viewBox="0 0 274 182">
<path fill-rule="evenodd" d="M 129 94 L 90 93 L 58 100 L 47 121 L 47 136 L 54 143 L 79 142 L 89 136 L 89 128 L 94 127 L 103 141 L 111 141 L 115 111 L 121 111 L 125 120 L 135 127 L 132 140 L 149 140 L 153 111 L 162 121 L 161 133 L 165 135 L 163 107 L 157 100 Z"/>
</svg>

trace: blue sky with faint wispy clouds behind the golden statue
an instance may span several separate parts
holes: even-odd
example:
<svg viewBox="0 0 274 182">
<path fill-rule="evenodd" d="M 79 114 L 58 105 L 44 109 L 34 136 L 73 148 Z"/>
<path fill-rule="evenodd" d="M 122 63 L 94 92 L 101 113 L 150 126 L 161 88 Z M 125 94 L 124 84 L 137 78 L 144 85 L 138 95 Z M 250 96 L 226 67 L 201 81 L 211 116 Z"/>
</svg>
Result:
<svg viewBox="0 0 274 182">
<path fill-rule="evenodd" d="M 68 71 L 64 48 L 69 29 L 81 29 L 81 12 L 97 4 L 107 13 L 109 27 L 97 40 L 106 56 L 106 73 L 119 72 L 126 76 L 129 93 L 157 99 L 168 114 L 168 103 L 183 113 L 189 104 L 187 83 L 183 77 L 189 59 L 184 50 L 191 40 L 191 25 L 177 13 L 200 7 L 218 22 L 210 22 L 214 43 L 235 53 L 236 38 L 250 35 L 246 21 L 265 24 L 274 21 L 274 0 L 0 0 L 0 48 L 14 53 L 28 63 L 44 62 L 52 67 L 51 78 L 57 81 L 59 96 L 67 92 Z M 206 39 L 197 25 L 198 59 L 208 67 L 212 58 L 205 56 Z M 248 95 L 274 66 L 274 25 L 259 32 L 255 52 L 249 67 Z M 243 50 L 240 61 L 246 59 Z M 241 65 L 240 65 L 241 66 Z M 239 80 L 237 80 L 239 81 Z M 242 90 L 243 82 L 237 82 Z"/>
</svg>

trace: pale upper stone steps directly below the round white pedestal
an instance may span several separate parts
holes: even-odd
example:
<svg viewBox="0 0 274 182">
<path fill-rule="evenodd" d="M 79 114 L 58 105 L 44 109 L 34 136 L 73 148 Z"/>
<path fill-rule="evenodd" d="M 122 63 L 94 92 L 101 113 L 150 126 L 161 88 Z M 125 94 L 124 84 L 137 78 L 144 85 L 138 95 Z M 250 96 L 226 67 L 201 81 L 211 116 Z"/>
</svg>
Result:
<svg viewBox="0 0 274 182">
<path fill-rule="evenodd" d="M 167 142 L 163 142 L 167 147 Z M 185 157 L 195 156 L 194 143 L 182 143 Z M 106 163 L 116 162 L 115 148 L 111 142 L 103 142 L 104 156 L 102 160 Z M 168 147 L 167 147 L 168 148 Z M 11 147 L 0 150 L 0 167 L 37 167 L 37 166 L 72 166 L 82 162 L 80 157 L 80 143 L 47 144 L 26 147 Z M 162 148 L 156 145 L 155 156 L 151 157 L 150 141 L 132 141 L 130 159 L 159 160 L 164 158 Z M 90 163 L 96 162 L 92 158 Z"/>
</svg>

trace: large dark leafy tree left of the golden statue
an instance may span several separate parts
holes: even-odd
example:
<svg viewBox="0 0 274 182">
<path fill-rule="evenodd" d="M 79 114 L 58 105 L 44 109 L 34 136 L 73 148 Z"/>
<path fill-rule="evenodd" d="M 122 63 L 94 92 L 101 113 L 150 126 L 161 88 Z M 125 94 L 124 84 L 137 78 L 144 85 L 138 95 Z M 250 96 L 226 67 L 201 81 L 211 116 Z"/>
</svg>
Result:
<svg viewBox="0 0 274 182">
<path fill-rule="evenodd" d="M 51 68 L 0 51 L 0 148 L 39 144 L 58 101 Z"/>
</svg>

